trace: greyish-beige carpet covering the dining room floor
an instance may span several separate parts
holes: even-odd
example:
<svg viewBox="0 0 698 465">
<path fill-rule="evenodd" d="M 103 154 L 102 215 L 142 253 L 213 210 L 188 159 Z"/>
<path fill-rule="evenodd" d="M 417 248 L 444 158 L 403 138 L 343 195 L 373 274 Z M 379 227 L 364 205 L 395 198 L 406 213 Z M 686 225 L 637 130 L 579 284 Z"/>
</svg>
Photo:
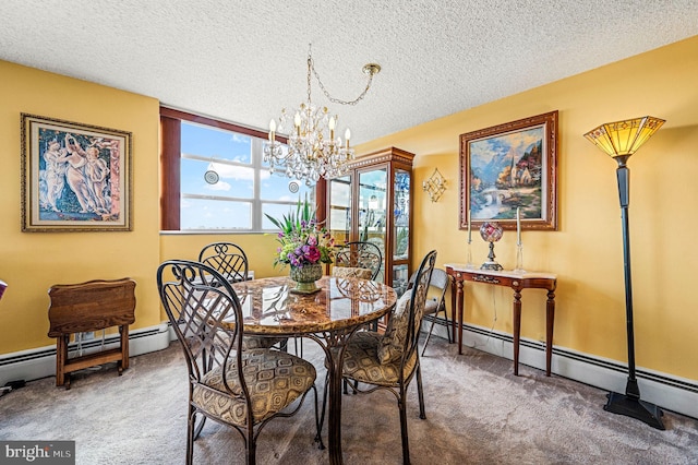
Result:
<svg viewBox="0 0 698 465">
<path fill-rule="evenodd" d="M 665 412 L 666 431 L 603 410 L 605 392 L 432 338 L 422 358 L 426 420 L 410 388 L 413 464 L 697 464 L 698 420 Z M 74 440 L 79 464 L 184 463 L 186 369 L 178 343 L 115 369 L 81 372 L 72 389 L 55 378 L 0 398 L 0 440 Z M 322 371 L 321 353 L 305 357 Z M 318 383 L 320 384 L 320 383 Z M 311 397 L 309 397 L 310 400 Z M 388 393 L 345 395 L 346 464 L 400 464 L 400 430 Z M 326 427 L 325 427 L 326 440 Z M 261 433 L 260 464 L 326 464 L 313 443 L 313 410 L 272 421 Z M 198 464 L 240 464 L 242 440 L 209 421 L 195 443 Z"/>
</svg>

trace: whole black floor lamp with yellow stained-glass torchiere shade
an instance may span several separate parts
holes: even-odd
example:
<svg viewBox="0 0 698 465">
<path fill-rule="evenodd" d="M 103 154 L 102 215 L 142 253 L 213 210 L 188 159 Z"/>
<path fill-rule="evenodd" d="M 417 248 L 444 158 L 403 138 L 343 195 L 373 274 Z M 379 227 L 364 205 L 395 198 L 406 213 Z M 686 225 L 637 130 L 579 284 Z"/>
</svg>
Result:
<svg viewBox="0 0 698 465">
<path fill-rule="evenodd" d="M 640 389 L 635 378 L 635 336 L 633 332 L 633 286 L 630 283 L 630 239 L 628 237 L 629 176 L 627 160 L 662 124 L 663 119 L 643 117 L 601 124 L 585 134 L 589 141 L 612 156 L 618 164 L 618 195 L 623 220 L 623 262 L 625 267 L 625 314 L 627 322 L 628 382 L 625 394 L 609 393 L 604 410 L 626 415 L 645 421 L 652 428 L 664 429 L 662 410 L 653 404 L 640 401 Z"/>
</svg>

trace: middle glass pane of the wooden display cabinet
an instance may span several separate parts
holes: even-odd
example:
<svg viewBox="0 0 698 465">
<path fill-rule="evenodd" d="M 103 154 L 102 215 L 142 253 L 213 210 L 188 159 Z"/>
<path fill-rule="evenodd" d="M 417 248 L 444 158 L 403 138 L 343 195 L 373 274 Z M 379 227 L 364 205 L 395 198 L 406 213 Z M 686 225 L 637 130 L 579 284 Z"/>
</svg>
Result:
<svg viewBox="0 0 698 465">
<path fill-rule="evenodd" d="M 359 240 L 378 246 L 384 257 L 375 281 L 385 279 L 387 168 L 359 171 Z"/>
</svg>

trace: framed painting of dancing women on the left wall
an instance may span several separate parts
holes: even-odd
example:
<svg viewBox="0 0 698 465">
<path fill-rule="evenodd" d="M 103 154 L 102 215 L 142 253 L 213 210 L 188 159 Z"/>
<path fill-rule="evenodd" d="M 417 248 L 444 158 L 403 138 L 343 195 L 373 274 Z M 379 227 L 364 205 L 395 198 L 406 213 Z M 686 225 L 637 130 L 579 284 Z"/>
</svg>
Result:
<svg viewBox="0 0 698 465">
<path fill-rule="evenodd" d="M 22 230 L 132 230 L 131 133 L 22 114 Z"/>
</svg>

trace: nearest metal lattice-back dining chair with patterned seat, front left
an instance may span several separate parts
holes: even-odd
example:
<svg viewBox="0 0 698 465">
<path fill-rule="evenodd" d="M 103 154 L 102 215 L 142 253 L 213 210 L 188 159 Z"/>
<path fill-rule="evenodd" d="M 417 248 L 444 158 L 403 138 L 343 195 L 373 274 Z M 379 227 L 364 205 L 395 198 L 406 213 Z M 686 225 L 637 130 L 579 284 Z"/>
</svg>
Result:
<svg viewBox="0 0 698 465">
<path fill-rule="evenodd" d="M 203 282 L 202 275 L 212 276 L 220 285 Z M 324 449 L 315 367 L 280 350 L 243 350 L 242 309 L 221 274 L 203 263 L 170 260 L 158 267 L 157 286 L 189 370 L 188 464 L 193 461 L 194 441 L 207 418 L 237 430 L 244 439 L 245 463 L 254 464 L 257 437 L 264 426 L 276 417 L 294 415 L 311 390 L 315 441 Z"/>
</svg>

